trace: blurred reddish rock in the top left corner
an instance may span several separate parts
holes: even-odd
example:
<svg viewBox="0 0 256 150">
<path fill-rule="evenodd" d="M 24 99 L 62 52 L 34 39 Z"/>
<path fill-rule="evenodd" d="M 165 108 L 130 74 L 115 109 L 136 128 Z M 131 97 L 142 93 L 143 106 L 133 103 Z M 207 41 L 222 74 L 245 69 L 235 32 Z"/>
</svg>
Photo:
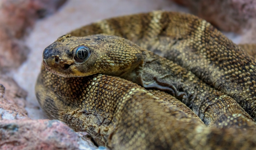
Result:
<svg viewBox="0 0 256 150">
<path fill-rule="evenodd" d="M 0 0 L 0 70 L 19 67 L 28 48 L 23 36 L 37 18 L 53 13 L 66 0 Z"/>
</svg>

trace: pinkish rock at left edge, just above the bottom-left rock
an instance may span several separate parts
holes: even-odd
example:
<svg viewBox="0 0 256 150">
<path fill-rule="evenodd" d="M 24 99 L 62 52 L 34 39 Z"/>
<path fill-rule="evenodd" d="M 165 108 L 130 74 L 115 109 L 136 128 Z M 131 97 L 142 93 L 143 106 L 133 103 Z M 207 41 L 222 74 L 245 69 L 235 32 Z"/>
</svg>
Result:
<svg viewBox="0 0 256 150">
<path fill-rule="evenodd" d="M 0 120 L 28 118 L 25 110 L 27 92 L 5 75 L 0 75 Z"/>
</svg>

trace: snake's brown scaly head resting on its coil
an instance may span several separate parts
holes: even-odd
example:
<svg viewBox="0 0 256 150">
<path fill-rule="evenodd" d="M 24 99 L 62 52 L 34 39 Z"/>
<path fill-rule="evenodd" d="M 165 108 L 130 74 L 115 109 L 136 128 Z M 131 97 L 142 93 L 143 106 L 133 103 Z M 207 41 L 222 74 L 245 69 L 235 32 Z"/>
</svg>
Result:
<svg viewBox="0 0 256 150">
<path fill-rule="evenodd" d="M 118 36 L 64 35 L 43 51 L 43 65 L 62 77 L 118 76 L 143 63 L 140 47 Z"/>
</svg>

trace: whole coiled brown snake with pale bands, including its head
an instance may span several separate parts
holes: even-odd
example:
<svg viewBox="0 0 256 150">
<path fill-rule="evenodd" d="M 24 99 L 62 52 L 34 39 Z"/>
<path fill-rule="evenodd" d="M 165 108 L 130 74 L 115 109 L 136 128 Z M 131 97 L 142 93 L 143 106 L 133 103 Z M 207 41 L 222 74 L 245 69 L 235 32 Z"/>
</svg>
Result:
<svg viewBox="0 0 256 150">
<path fill-rule="evenodd" d="M 99 21 L 45 48 L 43 65 L 36 83 L 42 108 L 99 145 L 254 148 L 254 58 L 193 15 L 154 11 Z"/>
</svg>

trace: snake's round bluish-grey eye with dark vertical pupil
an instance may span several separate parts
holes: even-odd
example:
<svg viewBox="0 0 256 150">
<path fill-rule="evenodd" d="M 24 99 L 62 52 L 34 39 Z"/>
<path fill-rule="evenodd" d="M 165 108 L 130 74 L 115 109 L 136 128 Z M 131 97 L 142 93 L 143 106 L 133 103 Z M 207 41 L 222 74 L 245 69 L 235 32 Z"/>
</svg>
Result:
<svg viewBox="0 0 256 150">
<path fill-rule="evenodd" d="M 78 62 L 85 61 L 91 55 L 91 50 L 86 46 L 78 46 L 74 49 L 74 59 Z"/>
</svg>

